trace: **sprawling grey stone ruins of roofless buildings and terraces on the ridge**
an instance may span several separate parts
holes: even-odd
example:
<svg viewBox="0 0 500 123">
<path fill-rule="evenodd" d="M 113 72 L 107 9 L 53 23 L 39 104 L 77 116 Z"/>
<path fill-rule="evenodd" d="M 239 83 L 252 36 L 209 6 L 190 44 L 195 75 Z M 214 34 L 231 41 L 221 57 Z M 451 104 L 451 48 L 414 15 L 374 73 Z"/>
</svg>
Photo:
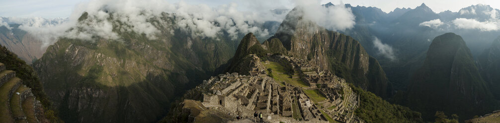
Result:
<svg viewBox="0 0 500 123">
<path fill-rule="evenodd" d="M 309 85 L 300 88 L 284 83 L 282 86 L 266 75 L 266 69 L 257 56 L 253 55 L 252 58 L 254 61 L 249 64 L 252 68 L 249 71 L 250 76 L 226 73 L 204 80 L 197 87 L 203 90 L 201 104 L 234 117 L 239 115 L 252 119 L 254 112 L 261 112 L 265 117 L 269 117 L 267 122 L 297 122 L 297 119 L 292 118 L 294 113 L 300 115 L 299 121 L 313 123 L 327 122 L 326 117 L 340 123 L 363 122 L 354 116 L 353 112 L 359 105 L 358 98 L 345 80 L 304 60 L 273 56 L 269 60 L 290 68 L 293 73 L 289 74 L 299 76 Z M 303 89 L 316 89 L 326 100 L 313 102 Z M 324 116 L 321 111 L 328 116 Z"/>
</svg>

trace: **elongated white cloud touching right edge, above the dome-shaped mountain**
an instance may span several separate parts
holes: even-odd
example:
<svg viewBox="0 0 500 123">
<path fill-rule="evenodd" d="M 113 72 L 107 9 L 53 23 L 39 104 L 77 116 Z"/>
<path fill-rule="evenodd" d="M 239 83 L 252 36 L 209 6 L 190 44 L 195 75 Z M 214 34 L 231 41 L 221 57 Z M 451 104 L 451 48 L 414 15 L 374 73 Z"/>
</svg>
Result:
<svg viewBox="0 0 500 123">
<path fill-rule="evenodd" d="M 456 18 L 452 23 L 458 29 L 479 29 L 481 31 L 496 31 L 498 23 L 496 21 L 479 22 L 475 19 Z"/>
</svg>

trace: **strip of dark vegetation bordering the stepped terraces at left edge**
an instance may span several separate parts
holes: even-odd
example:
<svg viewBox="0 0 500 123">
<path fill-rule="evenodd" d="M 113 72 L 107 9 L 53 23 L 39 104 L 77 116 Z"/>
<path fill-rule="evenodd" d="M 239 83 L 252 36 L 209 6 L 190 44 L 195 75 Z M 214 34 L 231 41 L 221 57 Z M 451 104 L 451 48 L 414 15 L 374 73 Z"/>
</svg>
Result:
<svg viewBox="0 0 500 123">
<path fill-rule="evenodd" d="M 0 63 L 3 63 L 7 70 L 15 71 L 15 76 L 22 80 L 22 84 L 31 88 L 31 92 L 36 97 L 36 100 L 42 104 L 47 120 L 51 123 L 63 123 L 63 121 L 56 117 L 57 112 L 54 112 L 50 107 L 50 101 L 48 101 L 47 95 L 43 92 L 42 84 L 31 66 L 27 65 L 4 46 L 0 46 Z"/>
</svg>

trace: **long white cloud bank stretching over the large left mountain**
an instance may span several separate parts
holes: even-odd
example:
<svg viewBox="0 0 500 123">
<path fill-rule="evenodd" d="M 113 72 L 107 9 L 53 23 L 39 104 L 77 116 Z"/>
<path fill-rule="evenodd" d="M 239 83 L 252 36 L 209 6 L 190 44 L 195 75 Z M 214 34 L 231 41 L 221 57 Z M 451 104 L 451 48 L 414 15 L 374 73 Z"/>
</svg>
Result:
<svg viewBox="0 0 500 123">
<path fill-rule="evenodd" d="M 188 4 L 184 1 L 169 3 L 165 0 L 91 0 L 75 6 L 68 19 L 52 22 L 41 17 L 8 18 L 0 20 L 0 26 L 18 23 L 20 29 L 28 31 L 43 41 L 43 46 L 53 44 L 57 38 L 77 38 L 92 40 L 99 36 L 106 39 L 119 40 L 116 32 L 136 32 L 145 34 L 149 39 L 157 39 L 161 26 L 188 32 L 193 37 L 217 38 L 217 35 L 227 33 L 232 39 L 241 34 L 253 32 L 259 37 L 269 36 L 267 29 L 261 25 L 266 21 L 281 21 L 287 12 L 271 12 L 270 8 L 261 10 L 241 11 L 238 4 L 223 4 L 210 7 L 205 4 Z M 82 13 L 87 12 L 87 18 L 78 21 Z M 165 25 L 151 21 L 168 13 L 175 19 L 174 25 Z M 1 18 L 0 18 L 1 19 Z M 116 22 L 121 22 L 116 27 Z M 114 24 L 114 27 L 113 27 Z M 160 27 L 158 27 L 160 26 Z M 170 30 L 173 34 L 173 30 Z"/>
</svg>

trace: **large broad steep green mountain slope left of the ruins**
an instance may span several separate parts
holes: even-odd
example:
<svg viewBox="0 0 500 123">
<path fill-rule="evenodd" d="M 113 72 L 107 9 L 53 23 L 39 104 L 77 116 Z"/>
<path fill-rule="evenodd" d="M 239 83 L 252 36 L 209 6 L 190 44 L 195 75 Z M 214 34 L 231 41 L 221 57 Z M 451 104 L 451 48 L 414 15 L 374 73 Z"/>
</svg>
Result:
<svg viewBox="0 0 500 123">
<path fill-rule="evenodd" d="M 226 63 L 236 47 L 229 36 L 194 37 L 181 31 L 174 14 L 148 19 L 156 39 L 120 29 L 119 40 L 61 38 L 33 64 L 50 100 L 68 123 L 148 123 L 165 114 L 181 96 Z M 79 23 L 92 23 L 84 13 Z M 78 27 L 73 29 L 80 29 Z"/>
</svg>

